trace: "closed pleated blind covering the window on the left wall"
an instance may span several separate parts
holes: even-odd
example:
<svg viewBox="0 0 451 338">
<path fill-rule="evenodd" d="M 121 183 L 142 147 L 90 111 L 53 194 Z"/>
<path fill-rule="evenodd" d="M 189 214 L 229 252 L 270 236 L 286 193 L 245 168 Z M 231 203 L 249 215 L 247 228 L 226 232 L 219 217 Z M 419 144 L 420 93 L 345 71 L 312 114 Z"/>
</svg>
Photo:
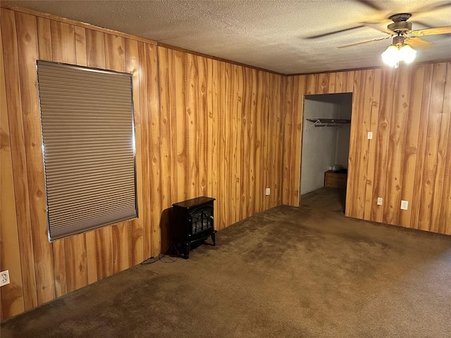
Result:
<svg viewBox="0 0 451 338">
<path fill-rule="evenodd" d="M 132 75 L 37 61 L 49 239 L 137 217 Z"/>
</svg>

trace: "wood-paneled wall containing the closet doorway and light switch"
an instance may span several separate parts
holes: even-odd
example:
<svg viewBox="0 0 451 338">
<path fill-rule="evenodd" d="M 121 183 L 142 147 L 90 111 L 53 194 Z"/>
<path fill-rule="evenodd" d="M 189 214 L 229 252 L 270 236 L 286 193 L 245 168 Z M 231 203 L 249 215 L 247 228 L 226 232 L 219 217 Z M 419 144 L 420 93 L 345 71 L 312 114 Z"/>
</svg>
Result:
<svg viewBox="0 0 451 338">
<path fill-rule="evenodd" d="M 451 63 L 288 77 L 283 203 L 299 204 L 302 96 L 340 92 L 353 93 L 346 215 L 451 234 Z"/>
</svg>

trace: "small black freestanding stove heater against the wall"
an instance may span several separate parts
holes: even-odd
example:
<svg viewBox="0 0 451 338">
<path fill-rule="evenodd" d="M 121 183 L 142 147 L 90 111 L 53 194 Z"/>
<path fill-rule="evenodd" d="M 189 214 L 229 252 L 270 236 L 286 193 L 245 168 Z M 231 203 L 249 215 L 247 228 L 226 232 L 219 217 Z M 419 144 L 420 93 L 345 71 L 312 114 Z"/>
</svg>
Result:
<svg viewBox="0 0 451 338">
<path fill-rule="evenodd" d="M 183 247 L 183 257 L 190 258 L 191 244 L 203 242 L 211 236 L 216 245 L 214 230 L 213 202 L 211 197 L 197 197 L 173 204 L 171 230 L 175 245 Z"/>
</svg>

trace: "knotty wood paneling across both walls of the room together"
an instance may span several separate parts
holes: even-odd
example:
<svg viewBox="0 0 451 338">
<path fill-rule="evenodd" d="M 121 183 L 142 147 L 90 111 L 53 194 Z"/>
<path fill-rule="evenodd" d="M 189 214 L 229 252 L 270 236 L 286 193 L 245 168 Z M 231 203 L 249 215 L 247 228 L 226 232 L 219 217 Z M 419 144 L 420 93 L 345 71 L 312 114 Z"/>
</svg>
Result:
<svg viewBox="0 0 451 338">
<path fill-rule="evenodd" d="M 30 11 L 0 29 L 2 319 L 158 255 L 177 201 L 216 197 L 219 230 L 297 206 L 304 94 L 354 93 L 348 216 L 451 234 L 450 63 L 285 77 Z M 132 73 L 139 218 L 48 241 L 37 59 Z"/>
</svg>

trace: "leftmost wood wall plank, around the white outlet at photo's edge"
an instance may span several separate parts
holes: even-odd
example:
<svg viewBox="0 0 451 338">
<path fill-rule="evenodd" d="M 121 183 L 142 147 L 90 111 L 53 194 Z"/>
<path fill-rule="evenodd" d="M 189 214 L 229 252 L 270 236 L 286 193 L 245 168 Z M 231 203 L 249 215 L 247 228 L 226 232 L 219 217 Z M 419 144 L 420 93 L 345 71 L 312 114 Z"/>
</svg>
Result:
<svg viewBox="0 0 451 338">
<path fill-rule="evenodd" d="M 0 41 L 0 270 L 9 270 L 11 281 L 1 287 L 1 320 L 25 311 L 7 109 L 3 42 Z"/>
</svg>

